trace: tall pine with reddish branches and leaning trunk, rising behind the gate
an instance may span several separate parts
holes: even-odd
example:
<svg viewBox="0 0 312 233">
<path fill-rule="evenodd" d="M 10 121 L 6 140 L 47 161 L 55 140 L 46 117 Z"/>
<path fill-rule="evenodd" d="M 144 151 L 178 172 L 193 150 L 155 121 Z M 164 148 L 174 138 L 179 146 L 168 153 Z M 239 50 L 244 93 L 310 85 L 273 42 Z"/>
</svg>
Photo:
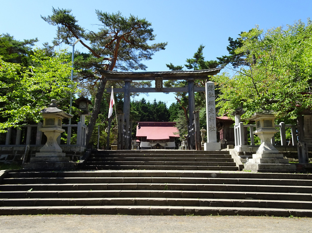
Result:
<svg viewBox="0 0 312 233">
<path fill-rule="evenodd" d="M 152 59 L 152 55 L 165 49 L 167 43 L 149 45 L 149 41 L 155 40 L 156 36 L 151 23 L 133 15 L 127 18 L 120 12 L 109 14 L 96 10 L 100 28 L 96 32 L 87 32 L 77 24 L 78 21 L 71 14 L 71 10 L 52 8 L 52 12 L 53 15 L 42 18 L 49 24 L 58 26 L 53 44 L 58 45 L 64 42 L 70 45 L 80 39 L 80 43 L 90 51 L 84 59 L 86 61 L 83 63 L 84 71 L 88 74 L 86 76 L 88 81 L 97 86 L 97 91 L 87 129 L 86 142 L 88 144 L 100 111 L 106 85 L 106 78 L 98 69 L 145 70 L 146 66 L 142 61 Z M 90 46 L 84 41 L 89 42 Z"/>
</svg>

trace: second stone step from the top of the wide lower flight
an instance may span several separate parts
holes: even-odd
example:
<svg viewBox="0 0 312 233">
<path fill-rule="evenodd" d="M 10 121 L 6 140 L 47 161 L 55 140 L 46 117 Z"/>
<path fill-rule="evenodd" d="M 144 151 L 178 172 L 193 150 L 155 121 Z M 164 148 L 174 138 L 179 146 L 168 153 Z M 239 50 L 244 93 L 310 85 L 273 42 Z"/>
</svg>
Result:
<svg viewBox="0 0 312 233">
<path fill-rule="evenodd" d="M 188 177 L 67 177 L 67 178 L 4 178 L 0 191 L 5 188 L 18 187 L 22 184 L 103 184 L 103 183 L 183 183 L 183 184 L 241 184 L 241 185 L 279 185 L 312 186 L 312 180 L 294 179 L 253 179 L 253 178 L 188 178 Z M 26 189 L 25 189 L 26 190 Z M 28 189 L 27 189 L 28 190 Z"/>
</svg>

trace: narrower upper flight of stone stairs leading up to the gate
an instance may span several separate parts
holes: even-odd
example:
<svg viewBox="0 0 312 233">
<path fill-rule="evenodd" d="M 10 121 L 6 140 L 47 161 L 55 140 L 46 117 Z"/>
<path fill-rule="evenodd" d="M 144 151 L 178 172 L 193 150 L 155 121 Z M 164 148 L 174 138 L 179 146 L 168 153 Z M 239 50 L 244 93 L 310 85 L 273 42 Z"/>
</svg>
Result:
<svg viewBox="0 0 312 233">
<path fill-rule="evenodd" d="M 237 171 L 238 167 L 228 151 L 98 150 L 83 169 Z"/>
</svg>

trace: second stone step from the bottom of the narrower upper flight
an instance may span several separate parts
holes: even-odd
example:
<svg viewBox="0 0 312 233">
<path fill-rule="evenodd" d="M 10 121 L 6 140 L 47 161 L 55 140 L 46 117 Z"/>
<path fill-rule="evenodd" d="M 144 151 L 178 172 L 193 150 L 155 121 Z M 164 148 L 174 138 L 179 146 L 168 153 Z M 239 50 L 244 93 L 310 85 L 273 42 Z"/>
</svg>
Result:
<svg viewBox="0 0 312 233">
<path fill-rule="evenodd" d="M 124 165 L 134 165 L 134 166 L 236 166 L 234 162 L 176 162 L 176 161 L 114 161 L 114 162 L 105 162 L 105 161 L 93 161 L 87 162 L 86 166 L 95 166 L 95 165 L 114 165 L 114 166 L 124 166 Z"/>
</svg>

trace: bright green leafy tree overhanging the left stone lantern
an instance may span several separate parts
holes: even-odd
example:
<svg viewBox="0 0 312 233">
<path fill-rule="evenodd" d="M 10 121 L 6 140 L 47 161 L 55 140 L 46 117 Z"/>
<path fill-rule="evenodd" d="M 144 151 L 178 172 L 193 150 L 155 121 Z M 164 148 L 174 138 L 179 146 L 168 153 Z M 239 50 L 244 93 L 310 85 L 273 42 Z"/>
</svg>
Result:
<svg viewBox="0 0 312 233">
<path fill-rule="evenodd" d="M 68 100 L 71 91 L 75 92 L 76 86 L 68 78 L 71 63 L 65 50 L 51 57 L 43 50 L 35 50 L 31 59 L 37 66 L 24 67 L 0 57 L 0 132 L 40 121 L 38 113 L 51 99 L 57 99 L 60 104 Z"/>
</svg>

